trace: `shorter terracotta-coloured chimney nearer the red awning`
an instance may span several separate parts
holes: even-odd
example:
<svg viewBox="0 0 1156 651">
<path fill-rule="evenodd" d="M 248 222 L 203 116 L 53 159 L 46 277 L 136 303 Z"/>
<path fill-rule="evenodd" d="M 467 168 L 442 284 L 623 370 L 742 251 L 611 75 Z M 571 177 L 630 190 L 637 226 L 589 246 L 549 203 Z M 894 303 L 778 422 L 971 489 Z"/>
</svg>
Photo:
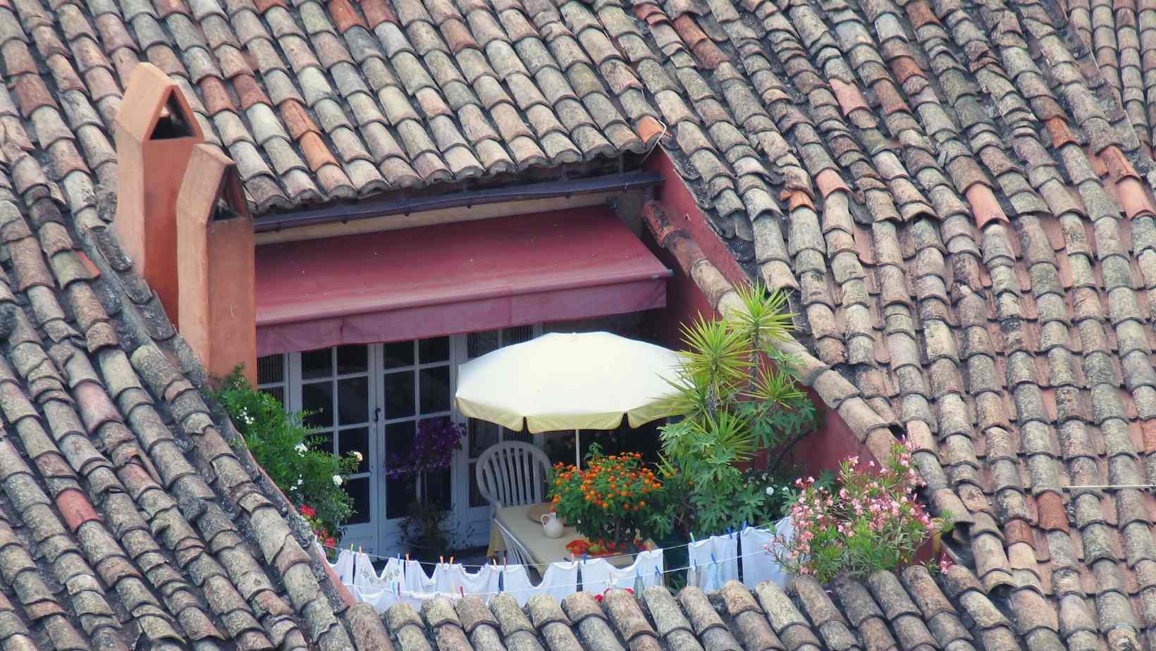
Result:
<svg viewBox="0 0 1156 651">
<path fill-rule="evenodd" d="M 244 364 L 255 386 L 253 220 L 236 163 L 215 147 L 194 147 L 176 206 L 177 328 L 209 377 Z"/>
</svg>

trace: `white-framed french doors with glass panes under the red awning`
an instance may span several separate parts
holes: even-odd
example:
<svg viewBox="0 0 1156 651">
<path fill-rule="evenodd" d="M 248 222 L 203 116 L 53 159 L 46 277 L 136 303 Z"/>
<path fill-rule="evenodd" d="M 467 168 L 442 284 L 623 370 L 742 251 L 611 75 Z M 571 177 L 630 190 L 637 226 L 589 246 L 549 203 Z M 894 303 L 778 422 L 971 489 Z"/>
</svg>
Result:
<svg viewBox="0 0 1156 651">
<path fill-rule="evenodd" d="M 391 478 L 413 446 L 421 421 L 449 416 L 453 408 L 458 364 L 528 340 L 540 326 L 524 326 L 453 336 L 338 346 L 271 355 L 258 360 L 258 383 L 292 412 L 305 410 L 323 450 L 360 452 L 356 473 L 343 478 L 354 502 L 341 546 L 378 555 L 403 553 L 400 521 L 418 498 L 413 476 Z M 451 511 L 449 531 L 457 548 L 484 545 L 490 508 L 474 478 L 477 457 L 502 441 L 529 441 L 521 432 L 469 419 L 462 450 L 451 467 L 427 475 L 430 500 Z"/>
</svg>

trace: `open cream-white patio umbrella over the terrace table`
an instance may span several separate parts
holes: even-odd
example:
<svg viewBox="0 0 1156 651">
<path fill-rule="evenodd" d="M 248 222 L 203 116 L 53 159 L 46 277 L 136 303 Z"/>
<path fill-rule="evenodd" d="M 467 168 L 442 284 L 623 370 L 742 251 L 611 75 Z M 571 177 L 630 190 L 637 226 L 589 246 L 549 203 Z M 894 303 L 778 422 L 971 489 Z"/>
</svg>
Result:
<svg viewBox="0 0 1156 651">
<path fill-rule="evenodd" d="M 679 354 L 608 332 L 550 333 L 458 368 L 458 409 L 520 431 L 614 429 L 670 415 Z M 668 382 L 669 380 L 669 382 Z"/>
</svg>

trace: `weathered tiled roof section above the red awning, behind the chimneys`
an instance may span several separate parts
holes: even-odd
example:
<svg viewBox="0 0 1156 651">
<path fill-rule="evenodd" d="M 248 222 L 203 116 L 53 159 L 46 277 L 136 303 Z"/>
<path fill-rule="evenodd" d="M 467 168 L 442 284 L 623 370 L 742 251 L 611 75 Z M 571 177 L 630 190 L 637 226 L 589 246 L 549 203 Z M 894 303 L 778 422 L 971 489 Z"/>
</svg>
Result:
<svg viewBox="0 0 1156 651">
<path fill-rule="evenodd" d="M 175 79 L 254 212 L 529 176 L 645 151 L 655 110 L 605 35 L 553 6 L 280 0 L 0 2 L 0 66 L 62 177 L 116 180 L 128 75 Z"/>
</svg>

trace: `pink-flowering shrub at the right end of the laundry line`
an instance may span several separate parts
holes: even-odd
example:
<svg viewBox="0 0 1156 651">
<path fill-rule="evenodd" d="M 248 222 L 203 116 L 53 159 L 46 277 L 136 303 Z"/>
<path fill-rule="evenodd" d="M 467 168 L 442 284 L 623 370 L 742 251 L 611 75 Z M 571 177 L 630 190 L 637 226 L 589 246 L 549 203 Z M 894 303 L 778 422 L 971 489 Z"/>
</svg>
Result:
<svg viewBox="0 0 1156 651">
<path fill-rule="evenodd" d="M 947 526 L 916 500 L 920 483 L 903 445 L 896 445 L 883 467 L 845 459 L 831 489 L 814 478 L 798 480 L 801 494 L 791 508 L 794 535 L 779 540 L 778 561 L 822 583 L 840 574 L 866 577 L 911 564 L 924 540 Z"/>
</svg>

